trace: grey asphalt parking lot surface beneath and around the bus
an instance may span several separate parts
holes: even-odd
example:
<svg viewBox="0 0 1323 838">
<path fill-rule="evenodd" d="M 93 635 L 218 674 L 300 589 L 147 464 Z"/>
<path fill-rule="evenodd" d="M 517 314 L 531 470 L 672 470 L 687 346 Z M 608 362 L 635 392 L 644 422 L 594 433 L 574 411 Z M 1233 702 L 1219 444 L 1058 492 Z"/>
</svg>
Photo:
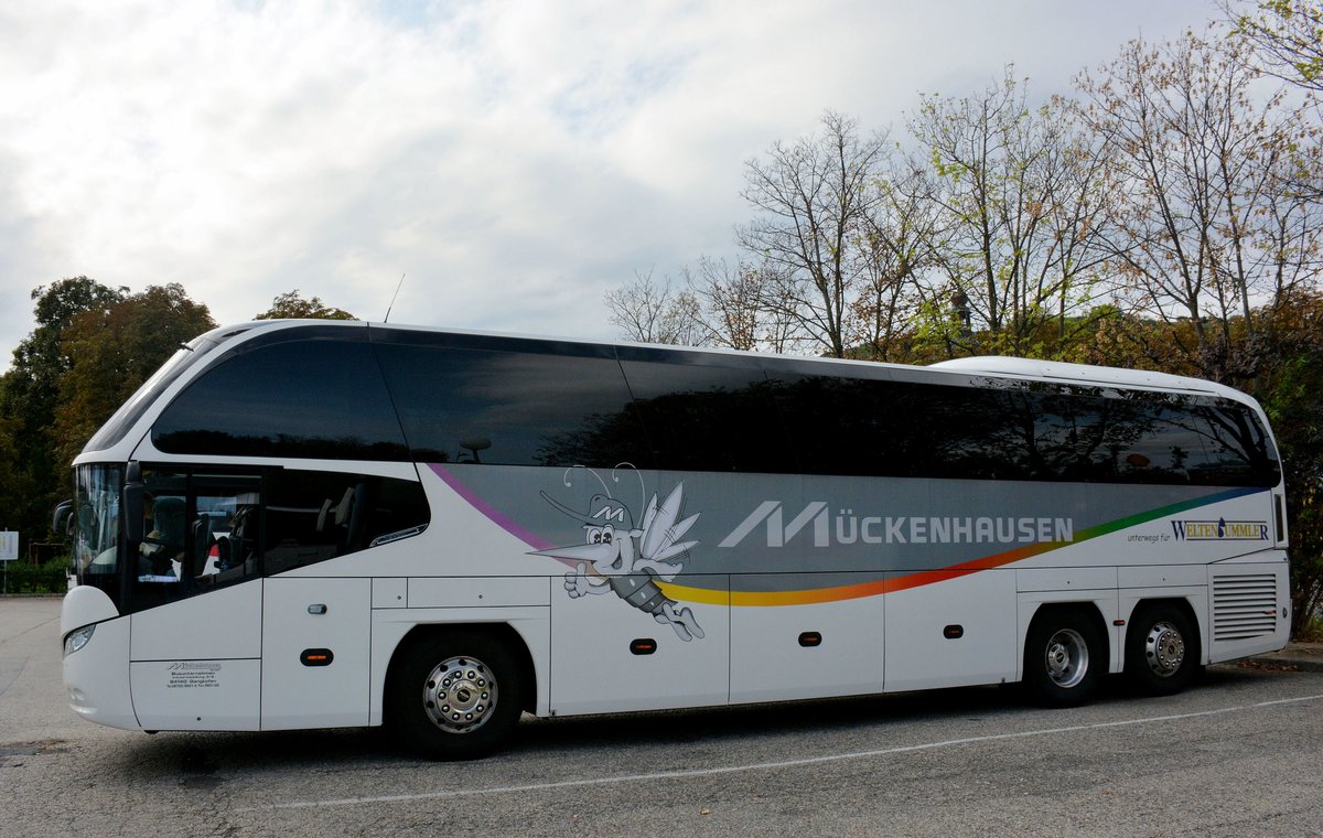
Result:
<svg viewBox="0 0 1323 838">
<path fill-rule="evenodd" d="M 1015 690 L 527 718 L 488 760 L 378 731 L 87 724 L 58 600 L 0 600 L 0 835 L 1323 835 L 1323 673 L 1209 667 L 1089 707 Z"/>
</svg>

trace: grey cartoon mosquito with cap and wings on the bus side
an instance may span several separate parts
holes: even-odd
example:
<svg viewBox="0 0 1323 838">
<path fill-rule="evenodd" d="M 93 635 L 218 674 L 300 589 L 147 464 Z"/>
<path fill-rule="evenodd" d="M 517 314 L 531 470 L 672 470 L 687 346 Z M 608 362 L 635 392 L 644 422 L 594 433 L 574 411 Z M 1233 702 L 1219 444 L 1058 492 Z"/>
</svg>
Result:
<svg viewBox="0 0 1323 838">
<path fill-rule="evenodd" d="M 669 625 L 681 641 L 701 638 L 703 629 L 693 618 L 693 610 L 677 609 L 675 600 L 667 597 L 656 584 L 659 579 L 673 580 L 684 569 L 684 557 L 689 549 L 699 544 L 680 540 L 699 520 L 697 514 L 680 520 L 684 483 L 677 483 L 660 504 L 654 494 L 643 512 L 642 526 L 635 528 L 630 508 L 611 496 L 606 482 L 595 471 L 587 471 L 606 490 L 606 494 L 593 495 L 587 512 L 572 510 L 545 491 L 541 492 L 557 510 L 582 522 L 585 543 L 541 549 L 534 555 L 578 561 L 576 569 L 565 575 L 565 590 L 572 598 L 614 592 L 634 608 L 652 614 L 658 622 Z M 640 486 L 642 482 L 640 475 Z M 568 478 L 565 485 L 570 485 Z"/>
</svg>

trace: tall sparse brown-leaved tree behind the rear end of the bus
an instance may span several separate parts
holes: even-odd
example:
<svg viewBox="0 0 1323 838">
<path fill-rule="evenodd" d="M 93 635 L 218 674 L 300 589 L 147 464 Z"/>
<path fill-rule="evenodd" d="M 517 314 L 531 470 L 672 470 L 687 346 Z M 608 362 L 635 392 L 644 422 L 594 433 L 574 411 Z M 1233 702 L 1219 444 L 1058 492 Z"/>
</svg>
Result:
<svg viewBox="0 0 1323 838">
<path fill-rule="evenodd" d="M 1323 244 L 1316 203 L 1283 193 L 1314 130 L 1282 93 L 1256 95 L 1245 50 L 1193 33 L 1135 41 L 1078 79 L 1077 114 L 1101 143 L 1115 199 L 1117 293 L 1150 316 L 1187 320 L 1192 346 L 1181 349 L 1222 381 L 1254 375 L 1252 355 L 1232 356 L 1233 320 L 1253 347 L 1252 310 L 1316 282 Z"/>
</svg>

